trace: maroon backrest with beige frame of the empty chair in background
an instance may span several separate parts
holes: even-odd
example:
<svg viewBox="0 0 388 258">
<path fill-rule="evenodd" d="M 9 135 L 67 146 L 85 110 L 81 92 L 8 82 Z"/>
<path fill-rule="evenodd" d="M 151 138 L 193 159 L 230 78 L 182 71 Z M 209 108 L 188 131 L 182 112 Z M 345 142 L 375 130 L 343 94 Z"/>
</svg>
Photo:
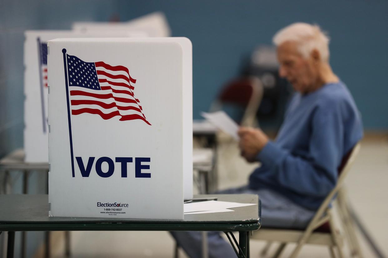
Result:
<svg viewBox="0 0 388 258">
<path fill-rule="evenodd" d="M 263 97 L 263 85 L 258 77 L 244 77 L 233 80 L 223 87 L 210 111 L 222 109 L 223 104 L 233 104 L 244 108 L 240 125 L 253 126 L 256 113 Z"/>
</svg>

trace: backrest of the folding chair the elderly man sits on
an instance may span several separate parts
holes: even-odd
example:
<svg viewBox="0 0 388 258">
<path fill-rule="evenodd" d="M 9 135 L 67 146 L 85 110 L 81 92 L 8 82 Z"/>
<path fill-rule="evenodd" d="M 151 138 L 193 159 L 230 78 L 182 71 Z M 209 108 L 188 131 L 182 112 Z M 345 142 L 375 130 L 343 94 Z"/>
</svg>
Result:
<svg viewBox="0 0 388 258">
<path fill-rule="evenodd" d="M 338 179 L 337 183 L 334 186 L 333 190 L 330 191 L 330 193 L 326 196 L 325 200 L 322 202 L 320 207 L 318 208 L 317 212 L 315 213 L 313 219 L 308 224 L 307 228 L 312 229 L 314 225 L 320 220 L 322 215 L 326 212 L 326 209 L 329 207 L 329 204 L 333 200 L 334 196 L 338 193 L 338 190 L 340 190 L 341 186 L 343 185 L 343 182 L 346 178 L 346 175 L 350 171 L 350 168 L 352 167 L 353 162 L 355 161 L 355 157 L 359 153 L 360 150 L 360 143 L 357 143 L 342 159 L 342 162 L 340 166 L 338 167 Z"/>
</svg>

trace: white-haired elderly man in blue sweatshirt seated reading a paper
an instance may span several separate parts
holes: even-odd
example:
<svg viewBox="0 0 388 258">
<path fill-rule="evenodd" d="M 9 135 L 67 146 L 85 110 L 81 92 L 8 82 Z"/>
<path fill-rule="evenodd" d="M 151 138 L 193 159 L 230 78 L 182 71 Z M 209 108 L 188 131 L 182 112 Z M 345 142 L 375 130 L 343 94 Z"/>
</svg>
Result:
<svg viewBox="0 0 388 258">
<path fill-rule="evenodd" d="M 274 36 L 279 74 L 294 87 L 275 141 L 260 129 L 240 128 L 241 155 L 260 161 L 249 183 L 223 193 L 256 193 L 262 227 L 305 228 L 337 179 L 342 157 L 362 138 L 359 111 L 329 65 L 329 39 L 305 23 Z M 201 253 L 199 232 L 172 232 L 190 257 Z M 209 234 L 210 257 L 235 257 L 229 243 Z"/>
</svg>

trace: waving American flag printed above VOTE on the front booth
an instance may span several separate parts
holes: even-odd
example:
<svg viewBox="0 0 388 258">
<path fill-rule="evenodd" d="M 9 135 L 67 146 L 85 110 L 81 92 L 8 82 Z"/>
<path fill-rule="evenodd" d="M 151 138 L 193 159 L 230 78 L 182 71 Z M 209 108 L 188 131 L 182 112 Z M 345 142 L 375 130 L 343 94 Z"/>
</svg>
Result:
<svg viewBox="0 0 388 258">
<path fill-rule="evenodd" d="M 120 121 L 145 118 L 133 91 L 136 80 L 128 68 L 104 62 L 84 62 L 66 54 L 71 114 L 97 114 L 104 120 L 120 116 Z"/>
</svg>

